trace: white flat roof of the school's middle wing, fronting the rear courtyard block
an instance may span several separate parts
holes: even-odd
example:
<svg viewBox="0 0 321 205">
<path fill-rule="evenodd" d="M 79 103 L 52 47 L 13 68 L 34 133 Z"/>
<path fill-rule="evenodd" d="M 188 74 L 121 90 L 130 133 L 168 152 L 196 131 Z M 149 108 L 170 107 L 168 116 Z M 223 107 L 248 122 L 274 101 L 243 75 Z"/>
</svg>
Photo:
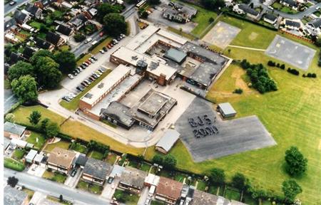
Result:
<svg viewBox="0 0 321 205">
<path fill-rule="evenodd" d="M 136 66 L 137 61 L 143 59 L 148 64 L 147 71 L 149 73 L 152 73 L 153 75 L 156 75 L 156 76 L 160 76 L 161 74 L 166 75 L 166 80 L 169 80 L 170 78 L 172 78 L 172 76 L 175 75 L 177 71 L 175 68 L 172 68 L 169 65 L 165 65 L 163 63 L 160 63 L 159 61 L 152 59 L 150 56 L 147 56 L 142 53 L 138 53 L 136 51 L 133 51 L 123 46 L 118 48 L 112 54 L 112 56 L 120 58 L 121 60 L 126 61 L 127 63 L 130 63 L 131 65 L 134 65 L 134 66 Z M 159 63 L 157 68 L 151 68 L 151 64 L 155 64 L 155 63 Z"/>
</svg>

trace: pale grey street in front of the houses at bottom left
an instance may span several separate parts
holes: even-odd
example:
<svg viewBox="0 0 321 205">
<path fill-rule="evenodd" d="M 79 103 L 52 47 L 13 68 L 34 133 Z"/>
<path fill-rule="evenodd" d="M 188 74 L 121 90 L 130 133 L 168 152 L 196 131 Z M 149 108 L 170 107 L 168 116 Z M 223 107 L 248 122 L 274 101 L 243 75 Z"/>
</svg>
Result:
<svg viewBox="0 0 321 205">
<path fill-rule="evenodd" d="M 90 194 L 85 191 L 80 191 L 78 189 L 73 189 L 63 184 L 58 184 L 56 182 L 51 182 L 40 177 L 34 177 L 26 172 L 15 172 L 11 169 L 4 168 L 4 180 L 8 177 L 16 177 L 19 179 L 19 184 L 26 186 L 34 191 L 40 191 L 44 194 L 49 194 L 51 196 L 59 197 L 60 194 L 63 195 L 63 199 L 72 201 L 73 203 L 79 204 L 109 204 L 110 200 L 97 196 L 95 194 Z"/>
</svg>

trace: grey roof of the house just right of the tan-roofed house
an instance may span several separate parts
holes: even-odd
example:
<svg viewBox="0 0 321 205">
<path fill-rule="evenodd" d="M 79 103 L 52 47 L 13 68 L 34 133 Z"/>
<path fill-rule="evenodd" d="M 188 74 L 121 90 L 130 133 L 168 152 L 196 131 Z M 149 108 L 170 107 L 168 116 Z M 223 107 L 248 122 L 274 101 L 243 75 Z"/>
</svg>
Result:
<svg viewBox="0 0 321 205">
<path fill-rule="evenodd" d="M 106 179 L 107 174 L 111 172 L 111 164 L 98 159 L 88 158 L 83 174 L 88 174 L 98 179 Z"/>
</svg>

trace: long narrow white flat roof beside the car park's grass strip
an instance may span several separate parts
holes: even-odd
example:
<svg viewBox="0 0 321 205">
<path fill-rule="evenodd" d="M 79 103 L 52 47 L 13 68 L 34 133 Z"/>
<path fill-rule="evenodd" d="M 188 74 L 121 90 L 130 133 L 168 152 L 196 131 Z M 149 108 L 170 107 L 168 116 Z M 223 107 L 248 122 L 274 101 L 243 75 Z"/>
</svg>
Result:
<svg viewBox="0 0 321 205">
<path fill-rule="evenodd" d="M 111 71 L 111 73 L 103 78 L 101 82 L 91 88 L 91 90 L 89 90 L 86 95 L 83 95 L 83 97 L 81 97 L 81 100 L 88 103 L 89 105 L 93 105 L 94 102 L 96 102 L 97 100 L 99 101 L 99 98 L 101 98 L 101 96 L 106 93 L 107 90 L 111 89 L 113 85 L 118 83 L 118 81 L 123 78 L 124 75 L 130 72 L 131 69 L 129 69 L 125 65 L 118 65 Z"/>
</svg>

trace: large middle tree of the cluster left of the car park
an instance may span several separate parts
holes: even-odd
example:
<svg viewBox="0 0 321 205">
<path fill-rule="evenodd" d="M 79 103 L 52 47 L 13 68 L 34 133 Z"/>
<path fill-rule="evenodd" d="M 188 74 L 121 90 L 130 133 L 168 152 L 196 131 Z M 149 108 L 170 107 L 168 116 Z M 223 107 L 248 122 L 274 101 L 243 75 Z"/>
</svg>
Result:
<svg viewBox="0 0 321 205">
<path fill-rule="evenodd" d="M 35 70 L 39 85 L 44 85 L 45 88 L 56 88 L 62 78 L 59 64 L 52 58 L 39 57 L 36 60 Z"/>
</svg>

